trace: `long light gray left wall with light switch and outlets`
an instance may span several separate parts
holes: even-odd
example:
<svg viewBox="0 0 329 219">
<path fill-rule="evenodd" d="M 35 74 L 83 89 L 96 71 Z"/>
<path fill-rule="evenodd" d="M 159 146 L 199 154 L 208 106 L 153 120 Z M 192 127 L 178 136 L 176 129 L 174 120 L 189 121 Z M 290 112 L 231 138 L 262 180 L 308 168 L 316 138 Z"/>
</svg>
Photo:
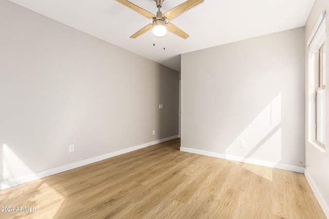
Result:
<svg viewBox="0 0 329 219">
<path fill-rule="evenodd" d="M 0 30 L 0 182 L 178 135 L 177 71 L 5 0 Z"/>
</svg>

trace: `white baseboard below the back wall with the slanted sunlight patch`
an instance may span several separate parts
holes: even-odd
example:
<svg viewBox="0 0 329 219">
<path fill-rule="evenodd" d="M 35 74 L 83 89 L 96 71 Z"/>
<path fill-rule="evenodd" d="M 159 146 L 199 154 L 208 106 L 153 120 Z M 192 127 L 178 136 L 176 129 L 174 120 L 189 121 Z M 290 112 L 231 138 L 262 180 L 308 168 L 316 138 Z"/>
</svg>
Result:
<svg viewBox="0 0 329 219">
<path fill-rule="evenodd" d="M 256 159 L 252 159 L 252 158 L 245 158 L 245 157 L 240 157 L 240 156 L 233 156 L 233 155 L 227 155 L 227 154 L 221 154 L 221 153 L 215 153 L 215 152 L 203 151 L 203 150 L 197 150 L 197 149 L 185 148 L 185 147 L 180 147 L 180 151 L 201 154 L 201 155 L 206 155 L 206 156 L 213 156 L 213 157 L 223 158 L 223 159 L 231 160 L 231 161 L 239 161 L 239 162 L 244 162 L 244 163 L 248 163 L 248 164 L 255 164 L 255 165 L 260 165 L 260 166 L 265 166 L 265 167 L 273 167 L 273 168 L 278 168 L 278 169 L 283 169 L 283 170 L 290 170 L 290 171 L 294 171 L 294 172 L 304 173 L 303 167 L 298 167 L 298 166 L 293 166 L 293 165 L 278 164 L 275 162 L 261 161 L 261 160 L 256 160 Z"/>
</svg>

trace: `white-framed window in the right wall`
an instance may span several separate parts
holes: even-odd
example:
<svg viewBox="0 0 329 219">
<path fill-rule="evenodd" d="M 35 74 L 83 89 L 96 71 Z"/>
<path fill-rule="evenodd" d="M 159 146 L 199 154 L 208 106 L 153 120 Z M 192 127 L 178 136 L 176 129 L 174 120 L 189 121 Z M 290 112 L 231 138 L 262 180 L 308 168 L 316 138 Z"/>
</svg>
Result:
<svg viewBox="0 0 329 219">
<path fill-rule="evenodd" d="M 309 117 L 312 141 L 325 146 L 325 12 L 309 42 L 309 98 L 313 110 Z"/>
</svg>

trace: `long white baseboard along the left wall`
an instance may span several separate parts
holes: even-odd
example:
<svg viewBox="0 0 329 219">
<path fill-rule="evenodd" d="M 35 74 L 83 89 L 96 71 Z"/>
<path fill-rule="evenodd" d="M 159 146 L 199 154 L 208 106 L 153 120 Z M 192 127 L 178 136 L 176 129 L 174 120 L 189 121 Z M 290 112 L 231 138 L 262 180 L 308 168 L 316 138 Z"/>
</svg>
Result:
<svg viewBox="0 0 329 219">
<path fill-rule="evenodd" d="M 122 150 L 119 150 L 119 151 L 115 151 L 115 152 L 112 152 L 112 153 L 100 155 L 100 156 L 93 157 L 93 158 L 89 158 L 87 160 L 83 160 L 83 161 L 79 161 L 79 162 L 76 162 L 76 163 L 64 165 L 64 166 L 61 166 L 61 167 L 56 167 L 56 168 L 53 168 L 53 169 L 50 169 L 50 170 L 45 170 L 45 171 L 42 171 L 42 172 L 25 175 L 25 176 L 22 176 L 22 177 L 19 177 L 19 178 L 14 178 L 13 180 L 8 180 L 8 181 L 4 181 L 4 182 L 0 183 L 0 190 L 6 189 L 6 188 L 9 188 L 9 187 L 13 187 L 13 186 L 17 186 L 17 185 L 20 185 L 20 184 L 23 184 L 23 183 L 27 183 L 27 182 L 30 182 L 30 181 L 33 181 L 33 180 L 38 180 L 39 178 L 43 178 L 43 177 L 46 177 L 46 176 L 49 176 L 49 175 L 53 175 L 53 174 L 57 174 L 57 173 L 60 173 L 60 172 L 67 171 L 67 170 L 75 169 L 77 167 L 82 167 L 82 166 L 85 166 L 85 165 L 88 165 L 88 164 L 92 164 L 92 163 L 95 163 L 95 162 L 98 162 L 98 161 L 105 160 L 107 158 L 118 156 L 120 154 L 128 153 L 128 152 L 131 152 L 131 151 L 135 151 L 135 150 L 138 150 L 138 149 L 142 149 L 142 148 L 145 148 L 145 147 L 156 145 L 156 144 L 159 144 L 159 143 L 162 143 L 162 142 L 167 142 L 167 141 L 173 140 L 177 137 L 178 137 L 178 135 L 174 135 L 174 136 L 163 138 L 161 140 L 157 140 L 157 141 L 154 141 L 154 142 L 145 143 L 145 144 L 142 144 L 142 145 L 137 145 L 137 146 L 130 147 L 130 148 L 125 148 L 125 149 L 122 149 Z"/>
</svg>

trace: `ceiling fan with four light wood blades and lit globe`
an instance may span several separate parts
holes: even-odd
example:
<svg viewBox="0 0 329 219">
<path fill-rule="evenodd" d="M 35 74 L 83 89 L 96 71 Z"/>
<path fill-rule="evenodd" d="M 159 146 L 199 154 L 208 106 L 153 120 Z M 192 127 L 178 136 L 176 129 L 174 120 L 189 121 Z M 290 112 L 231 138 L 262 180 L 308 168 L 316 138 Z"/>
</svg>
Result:
<svg viewBox="0 0 329 219">
<path fill-rule="evenodd" d="M 162 13 L 160 11 L 160 8 L 162 7 L 162 3 L 165 0 L 154 0 L 156 3 L 156 7 L 158 8 L 158 11 L 156 15 L 148 12 L 147 10 L 144 10 L 137 5 L 127 1 L 127 0 L 116 0 L 117 2 L 133 9 L 134 11 L 137 11 L 141 15 L 147 17 L 147 18 L 152 18 L 153 22 L 152 24 L 148 24 L 147 26 L 143 27 L 139 31 L 137 31 L 135 34 L 133 34 L 130 38 L 136 38 L 140 36 L 141 34 L 153 30 L 153 35 L 156 37 L 165 37 L 167 35 L 167 30 L 186 39 L 190 35 L 187 34 L 186 32 L 182 31 L 169 21 L 171 21 L 173 18 L 177 17 L 178 15 L 194 8 L 195 6 L 201 4 L 204 2 L 204 0 L 188 0 L 175 8 L 170 9 L 169 11 Z"/>
</svg>

